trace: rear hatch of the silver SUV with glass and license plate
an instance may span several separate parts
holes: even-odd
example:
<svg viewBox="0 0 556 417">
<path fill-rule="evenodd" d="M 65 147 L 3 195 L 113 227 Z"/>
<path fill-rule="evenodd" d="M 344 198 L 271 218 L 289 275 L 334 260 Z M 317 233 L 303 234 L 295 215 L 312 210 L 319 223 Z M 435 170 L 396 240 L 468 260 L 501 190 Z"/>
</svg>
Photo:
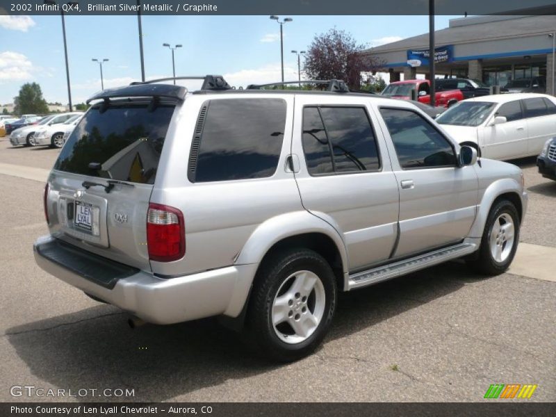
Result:
<svg viewBox="0 0 556 417">
<path fill-rule="evenodd" d="M 67 138 L 47 188 L 51 234 L 150 270 L 146 220 L 176 103 L 106 99 Z"/>
</svg>

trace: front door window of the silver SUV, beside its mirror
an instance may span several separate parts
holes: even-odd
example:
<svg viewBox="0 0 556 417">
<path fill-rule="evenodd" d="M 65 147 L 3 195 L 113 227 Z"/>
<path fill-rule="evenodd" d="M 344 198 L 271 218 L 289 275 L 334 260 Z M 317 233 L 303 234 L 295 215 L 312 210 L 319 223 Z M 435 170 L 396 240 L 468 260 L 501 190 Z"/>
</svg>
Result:
<svg viewBox="0 0 556 417">
<path fill-rule="evenodd" d="M 382 108 L 403 169 L 455 166 L 455 152 L 439 131 L 414 111 Z"/>
</svg>

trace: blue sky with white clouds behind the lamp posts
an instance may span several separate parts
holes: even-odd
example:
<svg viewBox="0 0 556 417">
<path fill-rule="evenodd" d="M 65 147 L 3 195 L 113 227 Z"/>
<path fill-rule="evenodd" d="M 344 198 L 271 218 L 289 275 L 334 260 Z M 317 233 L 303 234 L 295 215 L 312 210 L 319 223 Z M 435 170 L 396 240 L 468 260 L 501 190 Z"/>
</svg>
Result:
<svg viewBox="0 0 556 417">
<path fill-rule="evenodd" d="M 286 80 L 297 79 L 291 50 L 306 49 L 314 35 L 334 26 L 368 47 L 429 28 L 428 16 L 291 17 L 284 25 Z M 450 18 L 437 16 L 436 29 Z M 140 80 L 136 16 L 67 16 L 65 22 L 74 104 L 100 90 L 99 65 L 91 58 L 109 59 L 105 88 Z M 237 86 L 280 79 L 279 24 L 268 16 L 142 16 L 142 29 L 147 79 L 172 76 L 163 43 L 183 44 L 175 54 L 177 75 L 223 74 Z M 0 104 L 12 103 L 29 81 L 40 84 L 47 101 L 67 104 L 60 16 L 0 15 Z"/>
</svg>

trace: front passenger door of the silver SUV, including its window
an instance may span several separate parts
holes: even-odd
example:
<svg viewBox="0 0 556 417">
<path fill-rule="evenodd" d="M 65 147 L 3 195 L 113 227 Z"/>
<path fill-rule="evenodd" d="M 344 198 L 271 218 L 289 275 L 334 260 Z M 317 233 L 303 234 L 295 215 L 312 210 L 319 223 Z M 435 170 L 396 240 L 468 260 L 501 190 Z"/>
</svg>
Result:
<svg viewBox="0 0 556 417">
<path fill-rule="evenodd" d="M 475 168 L 457 167 L 451 142 L 418 112 L 380 108 L 380 114 L 400 186 L 400 238 L 393 256 L 460 242 L 475 220 Z"/>
</svg>

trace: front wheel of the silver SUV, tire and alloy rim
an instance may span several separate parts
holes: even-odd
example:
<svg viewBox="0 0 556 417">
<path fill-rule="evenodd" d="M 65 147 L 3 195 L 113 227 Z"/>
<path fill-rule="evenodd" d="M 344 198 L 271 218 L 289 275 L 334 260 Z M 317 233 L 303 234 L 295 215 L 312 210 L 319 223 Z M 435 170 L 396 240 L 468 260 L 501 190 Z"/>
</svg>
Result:
<svg viewBox="0 0 556 417">
<path fill-rule="evenodd" d="M 493 205 L 486 219 L 477 256 L 468 264 L 484 275 L 500 275 L 514 260 L 519 241 L 519 215 L 516 206 L 506 199 Z"/>
</svg>

